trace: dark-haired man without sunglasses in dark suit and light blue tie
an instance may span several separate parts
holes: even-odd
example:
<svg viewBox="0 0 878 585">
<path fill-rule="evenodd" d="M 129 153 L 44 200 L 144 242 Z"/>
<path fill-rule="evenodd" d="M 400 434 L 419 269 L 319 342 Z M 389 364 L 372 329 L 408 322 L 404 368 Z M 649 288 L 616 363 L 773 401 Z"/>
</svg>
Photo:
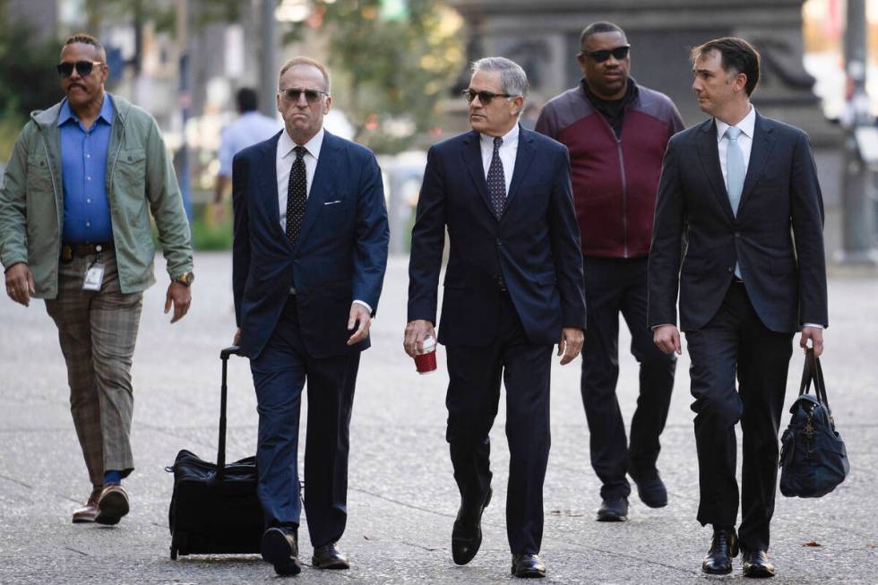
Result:
<svg viewBox="0 0 878 585">
<path fill-rule="evenodd" d="M 800 345 L 811 340 L 819 355 L 828 324 L 823 203 L 807 135 L 760 116 L 750 103 L 759 81 L 753 47 L 715 39 L 695 47 L 692 60 L 693 90 L 712 118 L 667 145 L 650 250 L 649 321 L 658 347 L 680 353 L 679 288 L 692 358 L 698 520 L 713 525 L 702 569 L 731 572 L 740 542 L 745 576 L 770 577 L 766 552 L 792 339 L 801 329 Z M 738 421 L 744 471 L 736 534 Z"/>
</svg>

